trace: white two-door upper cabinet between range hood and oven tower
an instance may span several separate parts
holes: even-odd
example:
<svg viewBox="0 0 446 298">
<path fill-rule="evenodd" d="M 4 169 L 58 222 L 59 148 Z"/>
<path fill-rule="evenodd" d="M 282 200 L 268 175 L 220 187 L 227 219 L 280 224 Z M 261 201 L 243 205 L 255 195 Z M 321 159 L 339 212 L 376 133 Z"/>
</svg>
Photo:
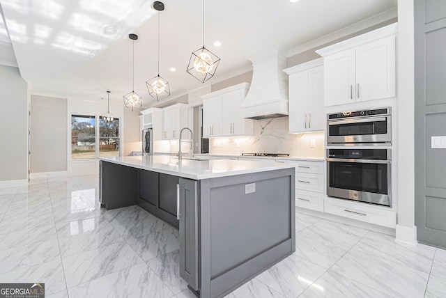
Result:
<svg viewBox="0 0 446 298">
<path fill-rule="evenodd" d="M 284 70 L 289 74 L 289 132 L 324 130 L 322 64 L 321 58 Z"/>
</svg>

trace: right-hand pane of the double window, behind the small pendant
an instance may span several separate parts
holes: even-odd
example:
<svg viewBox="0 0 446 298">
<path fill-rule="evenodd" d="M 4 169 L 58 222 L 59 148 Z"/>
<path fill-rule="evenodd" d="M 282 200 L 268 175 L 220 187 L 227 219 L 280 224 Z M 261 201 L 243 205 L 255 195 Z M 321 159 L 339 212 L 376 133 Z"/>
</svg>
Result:
<svg viewBox="0 0 446 298">
<path fill-rule="evenodd" d="M 112 123 L 99 120 L 99 156 L 119 155 L 119 119 L 114 118 Z"/>
</svg>

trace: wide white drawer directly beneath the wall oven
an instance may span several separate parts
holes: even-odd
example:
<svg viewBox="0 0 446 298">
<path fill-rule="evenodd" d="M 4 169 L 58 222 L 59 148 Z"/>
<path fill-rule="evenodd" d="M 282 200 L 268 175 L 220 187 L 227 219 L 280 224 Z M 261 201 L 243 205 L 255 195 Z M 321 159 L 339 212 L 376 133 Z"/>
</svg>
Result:
<svg viewBox="0 0 446 298">
<path fill-rule="evenodd" d="M 353 201 L 346 201 L 340 198 L 325 197 L 325 212 L 365 221 L 378 226 L 395 228 L 397 215 L 392 210 L 384 210 L 374 205 L 365 205 Z"/>
</svg>

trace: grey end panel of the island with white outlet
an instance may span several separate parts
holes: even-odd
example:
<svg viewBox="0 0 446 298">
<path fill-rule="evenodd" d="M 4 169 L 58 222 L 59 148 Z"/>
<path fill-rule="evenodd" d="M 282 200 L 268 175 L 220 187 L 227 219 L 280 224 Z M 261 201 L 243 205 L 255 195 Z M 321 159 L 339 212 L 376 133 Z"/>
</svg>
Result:
<svg viewBox="0 0 446 298">
<path fill-rule="evenodd" d="M 223 297 L 295 251 L 294 174 L 201 181 L 201 297 Z"/>
</svg>

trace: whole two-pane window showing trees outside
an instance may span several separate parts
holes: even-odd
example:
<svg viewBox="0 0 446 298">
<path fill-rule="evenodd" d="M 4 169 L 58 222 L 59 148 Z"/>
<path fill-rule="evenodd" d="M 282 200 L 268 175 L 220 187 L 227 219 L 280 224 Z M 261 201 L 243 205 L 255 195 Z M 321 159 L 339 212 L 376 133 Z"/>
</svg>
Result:
<svg viewBox="0 0 446 298">
<path fill-rule="evenodd" d="M 71 159 L 95 159 L 119 155 L 119 119 L 106 123 L 95 116 L 71 116 Z"/>
</svg>

